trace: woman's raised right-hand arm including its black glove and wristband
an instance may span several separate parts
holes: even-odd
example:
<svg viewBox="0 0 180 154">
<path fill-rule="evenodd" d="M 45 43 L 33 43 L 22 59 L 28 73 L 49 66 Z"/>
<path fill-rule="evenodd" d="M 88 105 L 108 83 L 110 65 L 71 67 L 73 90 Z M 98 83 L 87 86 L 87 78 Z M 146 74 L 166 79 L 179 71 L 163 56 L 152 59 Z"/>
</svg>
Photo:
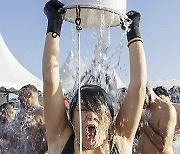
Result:
<svg viewBox="0 0 180 154">
<path fill-rule="evenodd" d="M 147 71 L 142 39 L 139 32 L 140 14 L 130 11 L 127 13 L 127 16 L 132 19 L 130 31 L 127 33 L 130 84 L 117 117 L 116 128 L 119 135 L 126 137 L 129 143 L 132 144 L 143 109 Z"/>
</svg>

